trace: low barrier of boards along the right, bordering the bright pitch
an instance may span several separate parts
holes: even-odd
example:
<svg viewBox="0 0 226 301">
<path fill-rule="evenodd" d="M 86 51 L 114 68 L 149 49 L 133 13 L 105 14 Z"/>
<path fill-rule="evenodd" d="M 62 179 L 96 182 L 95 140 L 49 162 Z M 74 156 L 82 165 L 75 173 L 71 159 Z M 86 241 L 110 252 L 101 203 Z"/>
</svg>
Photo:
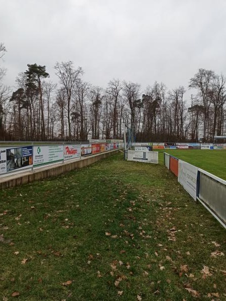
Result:
<svg viewBox="0 0 226 301">
<path fill-rule="evenodd" d="M 198 200 L 226 228 L 226 181 L 164 153 L 164 165 L 194 200 Z"/>
</svg>

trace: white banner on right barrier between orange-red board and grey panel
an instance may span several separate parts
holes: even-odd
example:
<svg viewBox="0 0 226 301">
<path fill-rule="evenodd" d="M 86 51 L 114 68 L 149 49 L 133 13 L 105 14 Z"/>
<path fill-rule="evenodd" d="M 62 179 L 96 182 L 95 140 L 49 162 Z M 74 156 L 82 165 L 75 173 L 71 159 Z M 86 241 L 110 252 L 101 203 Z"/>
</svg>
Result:
<svg viewBox="0 0 226 301">
<path fill-rule="evenodd" d="M 178 162 L 178 182 L 196 200 L 198 168 L 182 160 Z"/>
</svg>

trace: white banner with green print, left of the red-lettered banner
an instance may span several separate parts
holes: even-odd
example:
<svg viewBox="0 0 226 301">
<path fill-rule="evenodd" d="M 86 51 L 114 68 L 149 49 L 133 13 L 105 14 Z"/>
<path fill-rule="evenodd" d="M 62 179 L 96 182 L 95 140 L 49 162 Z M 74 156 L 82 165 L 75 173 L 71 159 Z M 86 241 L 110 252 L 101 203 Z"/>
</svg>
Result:
<svg viewBox="0 0 226 301">
<path fill-rule="evenodd" d="M 63 145 L 34 146 L 34 167 L 49 163 L 63 161 Z"/>
</svg>

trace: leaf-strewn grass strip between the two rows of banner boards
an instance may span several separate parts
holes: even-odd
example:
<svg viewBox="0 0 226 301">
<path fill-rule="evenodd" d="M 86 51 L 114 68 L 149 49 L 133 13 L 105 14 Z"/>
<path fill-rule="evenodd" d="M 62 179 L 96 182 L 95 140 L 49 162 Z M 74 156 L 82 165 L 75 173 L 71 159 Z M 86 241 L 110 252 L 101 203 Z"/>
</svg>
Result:
<svg viewBox="0 0 226 301">
<path fill-rule="evenodd" d="M 162 165 L 117 154 L 0 199 L 4 300 L 226 300 L 225 230 Z"/>
</svg>

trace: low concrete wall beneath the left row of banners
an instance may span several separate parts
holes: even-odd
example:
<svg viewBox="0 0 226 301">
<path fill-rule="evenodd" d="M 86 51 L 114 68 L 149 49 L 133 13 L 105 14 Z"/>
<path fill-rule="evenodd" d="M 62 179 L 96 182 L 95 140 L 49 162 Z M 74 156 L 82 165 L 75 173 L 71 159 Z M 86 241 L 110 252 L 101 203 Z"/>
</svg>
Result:
<svg viewBox="0 0 226 301">
<path fill-rule="evenodd" d="M 106 153 L 100 153 L 100 154 L 84 157 L 81 158 L 80 160 L 70 160 L 69 162 L 66 161 L 64 163 L 59 163 L 52 166 L 49 165 L 43 168 L 34 169 L 33 172 L 29 171 L 17 175 L 0 178 L 0 189 L 15 187 L 33 181 L 47 179 L 49 177 L 56 177 L 58 175 L 70 172 L 75 169 L 83 168 L 99 160 L 105 159 L 109 156 L 118 153 L 119 151 L 120 149 L 114 149 Z"/>
</svg>

